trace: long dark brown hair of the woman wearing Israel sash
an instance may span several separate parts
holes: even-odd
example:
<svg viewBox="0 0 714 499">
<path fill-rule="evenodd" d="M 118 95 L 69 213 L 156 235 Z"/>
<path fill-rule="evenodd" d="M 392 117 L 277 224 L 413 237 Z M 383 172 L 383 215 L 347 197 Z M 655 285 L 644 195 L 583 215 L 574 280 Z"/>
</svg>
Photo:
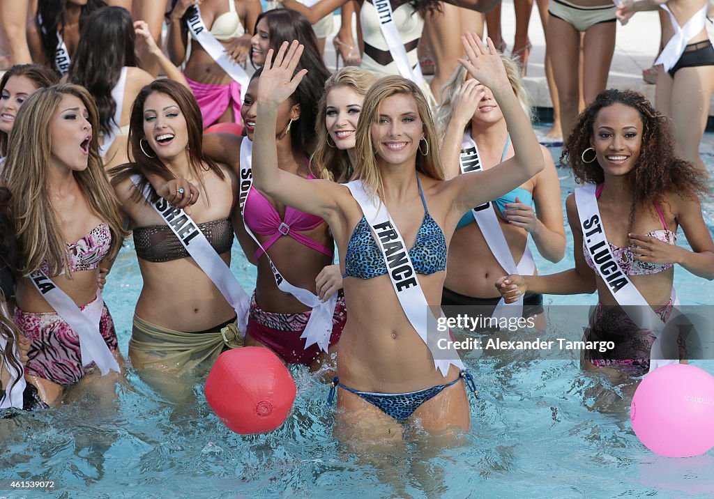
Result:
<svg viewBox="0 0 714 499">
<path fill-rule="evenodd" d="M 112 176 L 111 183 L 116 185 L 132 175 L 139 174 L 141 181 L 138 188 L 134 188 L 134 193 L 132 193 L 131 197 L 132 201 L 138 203 L 144 199 L 144 189 L 149 185 L 146 173 L 158 175 L 166 181 L 176 178 L 174 173 L 171 173 L 169 168 L 166 168 L 166 165 L 161 162 L 161 158 L 156 153 L 152 157 L 146 156 L 144 151 L 151 154 L 151 147 L 149 147 L 148 143 L 144 144 L 144 151 L 141 149 L 141 141 L 146 140 L 146 136 L 144 136 L 144 104 L 152 94 L 164 94 L 175 101 L 178 109 L 181 110 L 183 118 L 186 119 L 188 165 L 196 178 L 201 178 L 203 171 L 212 171 L 218 178 L 225 178 L 218 163 L 203 154 L 203 119 L 201 118 L 201 109 L 198 107 L 196 97 L 177 81 L 161 79 L 152 81 L 149 85 L 144 86 L 131 106 L 129 144 L 127 148 L 129 160 L 133 161 L 133 163 L 111 168 L 109 170 L 109 174 Z M 152 201 L 156 202 L 159 197 L 156 196 L 153 190 L 152 193 Z"/>
</svg>

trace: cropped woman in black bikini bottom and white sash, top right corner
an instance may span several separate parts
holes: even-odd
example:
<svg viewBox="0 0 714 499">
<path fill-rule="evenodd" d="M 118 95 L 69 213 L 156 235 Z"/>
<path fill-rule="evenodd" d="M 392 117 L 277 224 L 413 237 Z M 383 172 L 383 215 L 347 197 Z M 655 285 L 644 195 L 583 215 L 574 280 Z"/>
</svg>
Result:
<svg viewBox="0 0 714 499">
<path fill-rule="evenodd" d="M 618 7 L 618 17 L 625 24 L 637 11 L 668 12 L 663 26 L 666 45 L 656 64 L 659 71 L 655 106 L 673 121 L 675 148 L 679 156 L 706 172 L 699 156 L 699 143 L 709 116 L 709 102 L 714 94 L 714 46 L 707 28 L 707 0 L 625 1 Z M 681 31 L 675 33 L 673 24 Z M 686 45 L 685 45 L 686 44 Z"/>
</svg>

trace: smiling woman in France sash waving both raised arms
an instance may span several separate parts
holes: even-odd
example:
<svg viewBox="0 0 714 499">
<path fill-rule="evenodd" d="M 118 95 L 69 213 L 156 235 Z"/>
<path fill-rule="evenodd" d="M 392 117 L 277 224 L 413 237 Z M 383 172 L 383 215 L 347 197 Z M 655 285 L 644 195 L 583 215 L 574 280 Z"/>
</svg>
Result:
<svg viewBox="0 0 714 499">
<path fill-rule="evenodd" d="M 506 193 L 543 168 L 543 161 L 524 161 L 542 158 L 540 147 L 513 95 L 501 59 L 489 55 L 472 34 L 464 40 L 471 62 L 463 64 L 493 90 L 511 126 L 516 150 L 513 158 L 490 171 L 442 181 L 436 131 L 426 99 L 416 84 L 398 76 L 382 79 L 368 91 L 356 133 L 353 178 L 368 183 L 372 196 L 379 196 L 383 206 L 391 208 L 396 226 L 409 234 L 408 241 L 416 238 L 409 253 L 417 273 L 422 275 L 412 277 L 408 286 L 401 283 L 400 288 L 418 291 L 421 283 L 426 298 L 419 294 L 426 303 L 441 301 L 446 243 L 458 218 L 474 203 Z M 491 41 L 489 48 L 495 53 Z M 286 42 L 278 51 L 275 67 L 266 62 L 258 90 L 261 119 L 256 124 L 253 178 L 256 186 L 270 196 L 328 222 L 343 258 L 341 266 L 351 277 L 344 281 L 350 318 L 338 349 L 339 385 L 351 388 L 340 391 L 338 405 L 344 410 L 338 418 L 356 433 L 366 431 L 373 435 L 375 425 L 379 425 L 388 432 L 381 436 L 401 435 L 397 422 L 411 415 L 426 430 L 466 430 L 466 390 L 451 386 L 461 379 L 459 370 L 463 364 L 453 351 L 433 356 L 433 348 L 421 339 L 426 334 L 424 328 L 416 331 L 406 315 L 395 313 L 401 302 L 385 275 L 383 255 L 350 189 L 329 181 L 306 182 L 277 168 L 273 133 L 277 109 L 305 73 L 300 71 L 293 78 L 301 50 L 297 41 L 288 50 Z M 420 145 L 421 153 L 417 151 Z M 446 227 L 446 236 L 437 221 Z M 400 243 L 401 248 L 405 246 Z M 393 274 L 390 276 L 396 278 Z"/>
</svg>

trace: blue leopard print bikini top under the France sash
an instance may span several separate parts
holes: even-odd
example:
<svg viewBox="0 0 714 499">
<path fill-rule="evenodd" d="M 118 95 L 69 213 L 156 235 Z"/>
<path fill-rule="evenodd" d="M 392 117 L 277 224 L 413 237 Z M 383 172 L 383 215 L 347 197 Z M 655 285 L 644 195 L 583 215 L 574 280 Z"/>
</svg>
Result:
<svg viewBox="0 0 714 499">
<path fill-rule="evenodd" d="M 414 246 L 409 250 L 409 258 L 414 264 L 416 273 L 429 275 L 443 271 L 446 268 L 446 239 L 438 223 L 429 215 L 418 177 L 416 181 L 425 213 L 421 226 L 419 226 L 419 230 L 416 233 Z M 386 273 L 387 266 L 384 263 L 382 251 L 372 236 L 367 219 L 362 216 L 354 231 L 352 231 L 352 236 L 347 244 L 345 274 L 343 277 L 371 279 L 383 276 Z"/>
</svg>

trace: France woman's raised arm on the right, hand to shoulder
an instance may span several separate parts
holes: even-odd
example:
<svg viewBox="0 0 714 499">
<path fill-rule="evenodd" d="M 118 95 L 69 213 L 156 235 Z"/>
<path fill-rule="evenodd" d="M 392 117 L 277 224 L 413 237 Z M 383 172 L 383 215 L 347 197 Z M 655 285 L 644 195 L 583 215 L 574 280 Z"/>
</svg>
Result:
<svg viewBox="0 0 714 499">
<path fill-rule="evenodd" d="M 513 141 L 513 157 L 486 171 L 459 175 L 446 181 L 447 189 L 453 189 L 453 209 L 466 213 L 473 206 L 486 203 L 511 191 L 514 187 L 543 170 L 543 153 L 535 138 L 531 121 L 521 109 L 521 104 L 513 94 L 506 68 L 498 55 L 493 41 L 487 39 L 488 49 L 478 36 L 466 33 L 461 37 L 468 60 L 459 59 L 469 74 L 481 84 L 491 89 L 493 97 L 501 107 Z M 480 95 L 485 91 L 481 89 Z M 479 97 L 481 99 L 481 97 Z"/>
</svg>

